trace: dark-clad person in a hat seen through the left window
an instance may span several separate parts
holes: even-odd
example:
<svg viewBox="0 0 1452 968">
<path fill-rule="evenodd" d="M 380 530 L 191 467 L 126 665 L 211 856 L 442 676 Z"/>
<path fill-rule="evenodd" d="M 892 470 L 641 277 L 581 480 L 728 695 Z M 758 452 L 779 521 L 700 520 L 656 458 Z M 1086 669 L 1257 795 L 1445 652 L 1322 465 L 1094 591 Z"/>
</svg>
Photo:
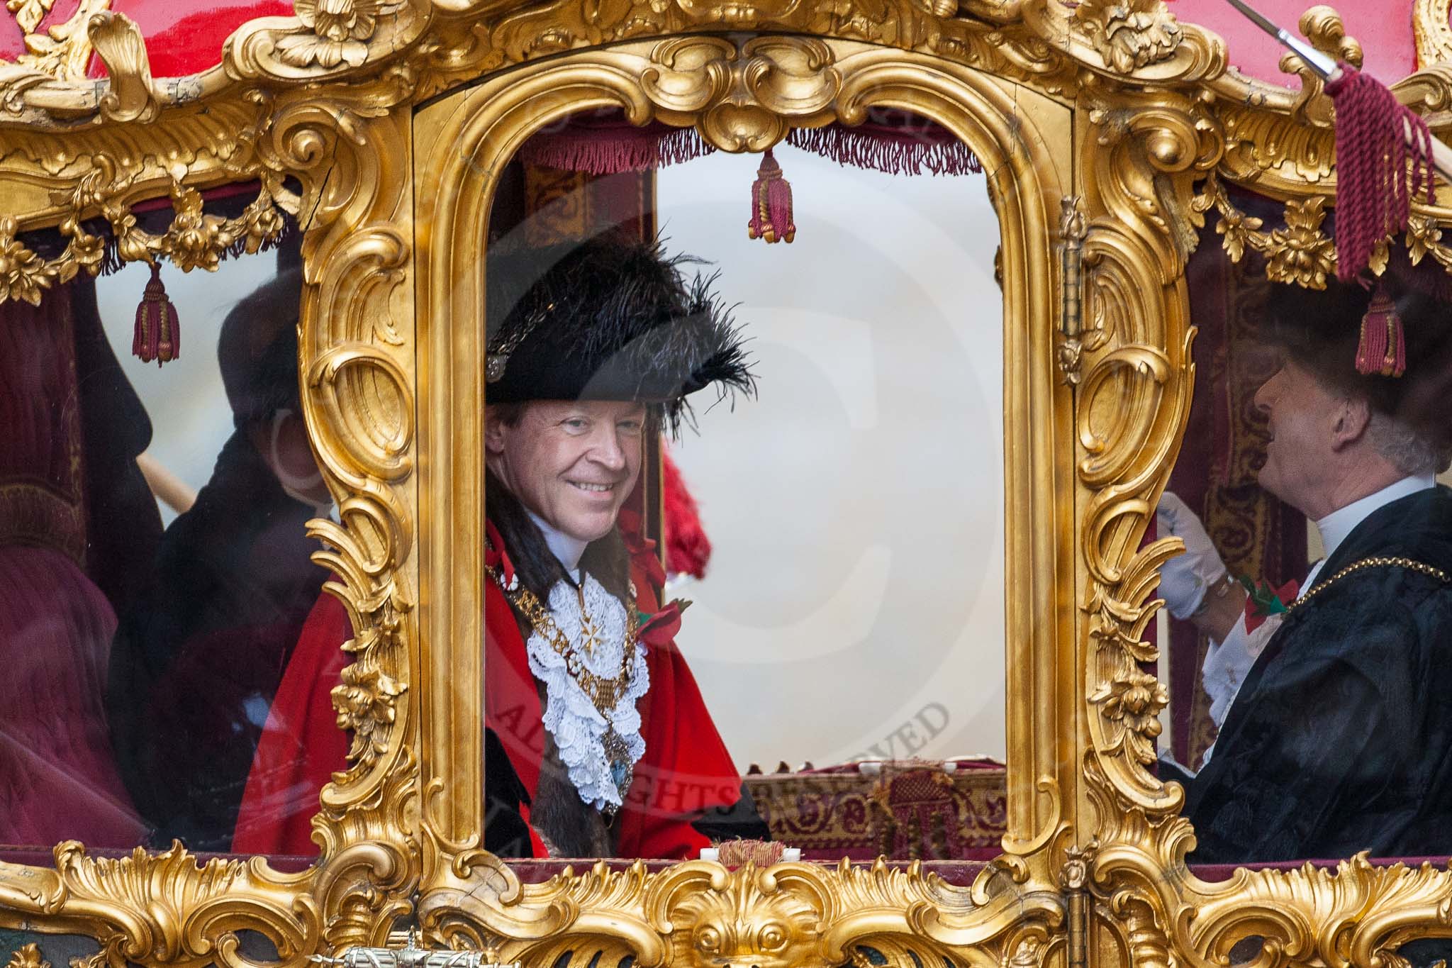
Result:
<svg viewBox="0 0 1452 968">
<path fill-rule="evenodd" d="M 231 846 L 267 710 L 325 578 L 306 536 L 331 499 L 299 405 L 301 282 L 285 271 L 222 324 L 235 431 L 163 536 L 112 649 L 116 756 L 155 845 Z"/>
</svg>

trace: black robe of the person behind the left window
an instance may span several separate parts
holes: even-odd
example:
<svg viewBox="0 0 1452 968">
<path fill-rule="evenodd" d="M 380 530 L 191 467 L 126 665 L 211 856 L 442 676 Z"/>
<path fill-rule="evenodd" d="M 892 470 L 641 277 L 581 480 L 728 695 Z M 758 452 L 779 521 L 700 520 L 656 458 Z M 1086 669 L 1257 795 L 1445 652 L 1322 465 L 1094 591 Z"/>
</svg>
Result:
<svg viewBox="0 0 1452 968">
<path fill-rule="evenodd" d="M 112 746 L 152 846 L 231 846 L 267 708 L 327 578 L 311 559 L 315 515 L 235 431 L 119 617 Z"/>
</svg>

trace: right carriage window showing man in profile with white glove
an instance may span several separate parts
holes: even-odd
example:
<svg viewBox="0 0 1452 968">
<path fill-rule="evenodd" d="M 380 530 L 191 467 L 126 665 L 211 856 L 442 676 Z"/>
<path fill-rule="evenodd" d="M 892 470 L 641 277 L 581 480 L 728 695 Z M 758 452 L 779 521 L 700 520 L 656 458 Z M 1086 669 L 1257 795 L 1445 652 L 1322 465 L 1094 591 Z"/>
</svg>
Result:
<svg viewBox="0 0 1452 968">
<path fill-rule="evenodd" d="M 1188 549 L 1159 634 L 1191 864 L 1452 852 L 1445 273 L 1400 245 L 1375 284 L 1313 263 L 1268 276 L 1207 226 L 1186 270 L 1195 398 L 1156 531 Z"/>
</svg>

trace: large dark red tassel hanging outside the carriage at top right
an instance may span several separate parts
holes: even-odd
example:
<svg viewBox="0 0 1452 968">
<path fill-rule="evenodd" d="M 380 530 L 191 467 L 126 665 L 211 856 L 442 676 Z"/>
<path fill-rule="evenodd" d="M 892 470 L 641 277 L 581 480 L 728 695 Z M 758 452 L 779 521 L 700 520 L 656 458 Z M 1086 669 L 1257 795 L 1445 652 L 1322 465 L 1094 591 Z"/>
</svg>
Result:
<svg viewBox="0 0 1452 968">
<path fill-rule="evenodd" d="M 1407 228 L 1413 196 L 1435 196 L 1427 122 L 1375 78 L 1349 64 L 1340 71 L 1326 91 L 1336 103 L 1336 274 L 1345 282 L 1381 239 Z"/>
</svg>

